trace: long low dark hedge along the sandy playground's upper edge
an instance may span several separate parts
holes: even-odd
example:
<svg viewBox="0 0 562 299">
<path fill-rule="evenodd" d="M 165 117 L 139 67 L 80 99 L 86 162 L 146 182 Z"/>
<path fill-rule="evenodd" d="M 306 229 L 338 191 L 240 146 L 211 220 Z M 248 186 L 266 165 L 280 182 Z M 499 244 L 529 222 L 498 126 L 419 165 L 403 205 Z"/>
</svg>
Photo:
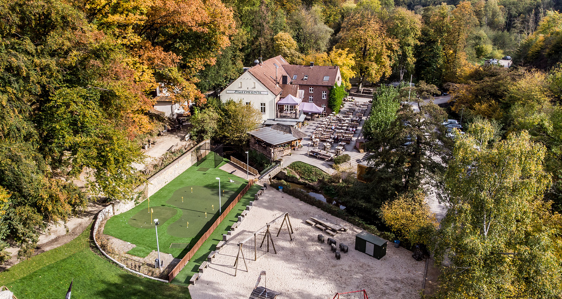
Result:
<svg viewBox="0 0 562 299">
<path fill-rule="evenodd" d="M 327 202 L 323 202 L 317 200 L 316 198 L 310 196 L 308 193 L 303 191 L 302 189 L 298 188 L 291 188 L 284 180 L 271 180 L 269 184 L 272 188 L 279 188 L 279 186 L 283 186 L 283 192 L 287 193 L 290 196 L 298 198 L 298 200 L 308 203 L 311 206 L 318 207 L 320 210 L 327 212 L 330 215 L 336 216 L 337 218 L 341 218 L 348 223 L 351 223 L 361 229 L 364 229 L 366 232 L 369 232 L 374 235 L 378 235 L 379 237 L 392 241 L 396 239 L 396 236 L 390 232 L 380 232 L 374 225 L 366 224 L 364 220 L 359 217 L 351 216 L 348 214 L 346 210 L 339 209 L 338 206 L 330 205 Z"/>
</svg>

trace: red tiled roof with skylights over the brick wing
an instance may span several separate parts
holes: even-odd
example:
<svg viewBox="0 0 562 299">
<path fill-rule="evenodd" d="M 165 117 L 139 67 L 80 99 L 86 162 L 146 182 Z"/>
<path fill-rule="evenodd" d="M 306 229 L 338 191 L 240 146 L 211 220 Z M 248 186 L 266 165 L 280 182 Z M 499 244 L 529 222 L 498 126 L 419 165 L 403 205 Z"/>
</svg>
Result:
<svg viewBox="0 0 562 299">
<path fill-rule="evenodd" d="M 338 75 L 338 66 L 307 66 L 307 65 L 283 65 L 283 69 L 293 80 L 293 84 L 334 86 Z M 293 79 L 297 75 L 296 79 Z M 305 76 L 307 79 L 305 80 Z M 327 79 L 327 80 L 324 80 Z"/>
</svg>

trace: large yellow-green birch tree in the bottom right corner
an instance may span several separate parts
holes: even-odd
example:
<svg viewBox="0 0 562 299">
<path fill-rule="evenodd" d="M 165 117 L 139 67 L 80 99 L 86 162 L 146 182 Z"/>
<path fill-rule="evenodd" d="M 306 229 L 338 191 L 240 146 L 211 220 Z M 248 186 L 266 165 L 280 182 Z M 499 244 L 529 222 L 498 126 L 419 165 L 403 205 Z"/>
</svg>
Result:
<svg viewBox="0 0 562 299">
<path fill-rule="evenodd" d="M 436 261 L 447 260 L 438 297 L 559 298 L 562 269 L 543 220 L 545 148 L 526 132 L 494 144 L 489 136 L 471 128 L 456 138 L 435 238 Z"/>
</svg>

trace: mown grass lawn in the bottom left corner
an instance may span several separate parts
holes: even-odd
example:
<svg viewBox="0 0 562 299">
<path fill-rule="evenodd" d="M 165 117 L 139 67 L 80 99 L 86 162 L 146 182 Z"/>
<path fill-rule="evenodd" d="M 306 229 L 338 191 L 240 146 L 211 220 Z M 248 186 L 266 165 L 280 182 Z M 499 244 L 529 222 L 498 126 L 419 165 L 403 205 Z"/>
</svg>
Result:
<svg viewBox="0 0 562 299">
<path fill-rule="evenodd" d="M 191 298 L 187 288 L 141 278 L 121 270 L 90 250 L 90 227 L 71 242 L 22 261 L 0 273 L 18 299 Z"/>
</svg>

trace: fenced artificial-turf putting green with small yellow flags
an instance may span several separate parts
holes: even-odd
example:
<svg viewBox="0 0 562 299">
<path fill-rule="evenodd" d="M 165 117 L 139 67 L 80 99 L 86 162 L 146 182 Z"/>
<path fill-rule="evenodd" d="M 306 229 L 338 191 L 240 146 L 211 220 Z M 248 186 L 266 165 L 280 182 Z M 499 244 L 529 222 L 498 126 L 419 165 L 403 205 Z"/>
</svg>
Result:
<svg viewBox="0 0 562 299">
<path fill-rule="evenodd" d="M 247 184 L 246 179 L 220 170 L 221 165 L 214 168 L 214 161 L 206 160 L 189 167 L 153 194 L 149 202 L 145 200 L 107 220 L 103 233 L 135 244 L 128 253 L 146 257 L 156 250 L 152 219 L 157 218 L 160 251 L 183 257 L 219 215 L 219 182 L 215 178 L 221 179 L 223 209 Z M 231 179 L 234 182 L 229 182 Z"/>
</svg>

